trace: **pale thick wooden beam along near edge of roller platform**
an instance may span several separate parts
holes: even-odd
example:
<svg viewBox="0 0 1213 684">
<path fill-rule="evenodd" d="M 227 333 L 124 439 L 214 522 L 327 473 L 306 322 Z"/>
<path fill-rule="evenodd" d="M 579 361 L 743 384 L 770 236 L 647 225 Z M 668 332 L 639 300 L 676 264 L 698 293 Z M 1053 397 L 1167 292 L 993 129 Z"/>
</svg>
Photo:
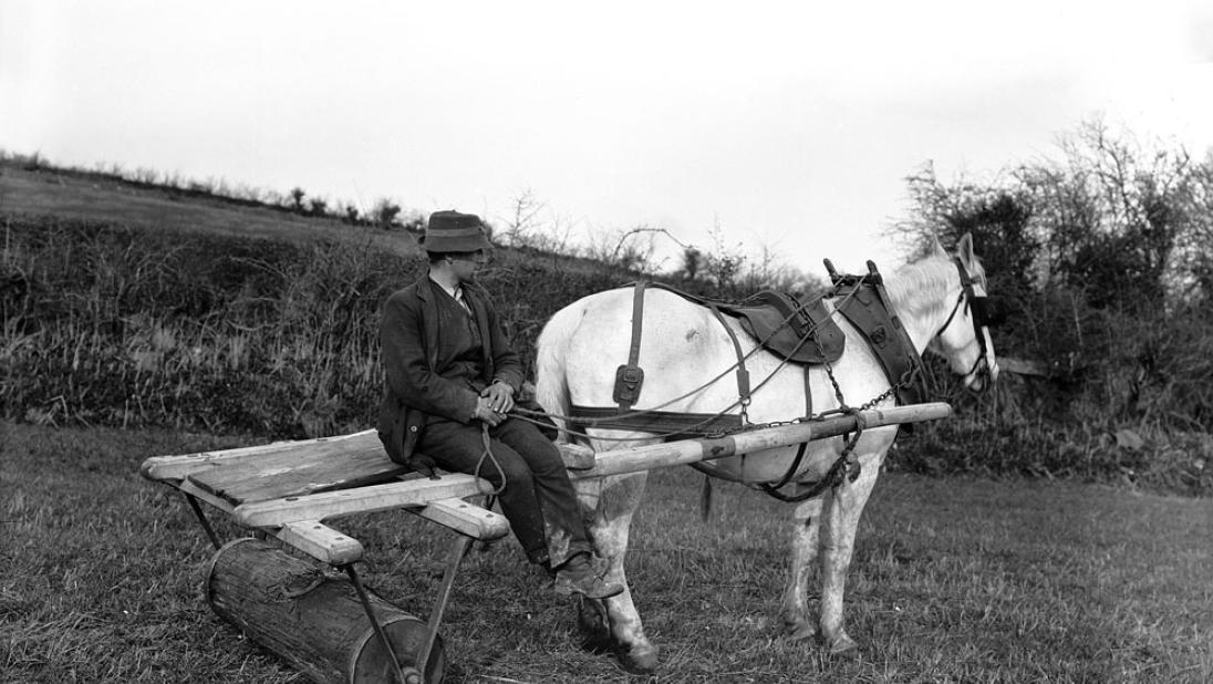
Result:
<svg viewBox="0 0 1213 684">
<path fill-rule="evenodd" d="M 480 488 L 485 491 L 490 486 L 488 481 L 480 480 Z M 477 478 L 463 473 L 450 473 L 437 480 L 418 478 L 307 496 L 254 501 L 237 506 L 233 515 L 241 525 L 268 528 L 298 520 L 324 520 L 353 513 L 420 507 L 442 498 L 473 496 L 480 491 L 477 488 Z"/>
</svg>

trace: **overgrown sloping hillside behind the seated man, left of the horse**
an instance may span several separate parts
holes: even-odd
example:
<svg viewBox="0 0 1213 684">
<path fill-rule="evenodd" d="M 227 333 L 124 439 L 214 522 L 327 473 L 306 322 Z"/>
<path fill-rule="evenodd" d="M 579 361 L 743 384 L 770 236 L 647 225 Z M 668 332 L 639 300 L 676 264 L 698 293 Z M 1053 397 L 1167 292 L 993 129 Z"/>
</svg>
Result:
<svg viewBox="0 0 1213 684">
<path fill-rule="evenodd" d="M 308 437 L 363 429 L 378 308 L 414 236 L 99 175 L 0 166 L 0 412 Z M 528 360 L 573 298 L 631 278 L 501 250 L 483 274 Z"/>
</svg>

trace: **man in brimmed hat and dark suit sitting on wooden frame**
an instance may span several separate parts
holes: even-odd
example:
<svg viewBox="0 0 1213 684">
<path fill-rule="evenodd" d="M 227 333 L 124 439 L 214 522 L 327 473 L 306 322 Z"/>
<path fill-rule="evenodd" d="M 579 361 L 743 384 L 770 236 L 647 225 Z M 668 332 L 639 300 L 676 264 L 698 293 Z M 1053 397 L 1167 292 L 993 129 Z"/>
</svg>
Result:
<svg viewBox="0 0 1213 684">
<path fill-rule="evenodd" d="M 480 218 L 437 211 L 421 244 L 429 273 L 388 298 L 380 330 L 387 392 L 378 434 L 388 456 L 422 472 L 438 464 L 503 486 L 502 513 L 530 562 L 556 572 L 558 593 L 619 594 L 621 585 L 593 570 L 559 450 L 534 424 L 508 418 L 523 370 L 475 284 L 490 249 Z M 482 460 L 485 427 L 491 458 Z"/>
</svg>

